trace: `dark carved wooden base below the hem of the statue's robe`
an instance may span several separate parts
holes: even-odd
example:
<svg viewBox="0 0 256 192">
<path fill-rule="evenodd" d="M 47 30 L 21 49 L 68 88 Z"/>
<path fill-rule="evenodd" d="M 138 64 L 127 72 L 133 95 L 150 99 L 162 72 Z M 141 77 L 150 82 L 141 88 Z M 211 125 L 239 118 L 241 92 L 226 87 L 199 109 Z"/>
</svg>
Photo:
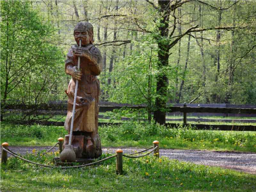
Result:
<svg viewBox="0 0 256 192">
<path fill-rule="evenodd" d="M 68 145 L 69 135 L 65 135 L 65 145 Z M 71 145 L 74 147 L 76 159 L 93 159 L 102 154 L 100 136 L 98 132 L 73 132 Z"/>
</svg>

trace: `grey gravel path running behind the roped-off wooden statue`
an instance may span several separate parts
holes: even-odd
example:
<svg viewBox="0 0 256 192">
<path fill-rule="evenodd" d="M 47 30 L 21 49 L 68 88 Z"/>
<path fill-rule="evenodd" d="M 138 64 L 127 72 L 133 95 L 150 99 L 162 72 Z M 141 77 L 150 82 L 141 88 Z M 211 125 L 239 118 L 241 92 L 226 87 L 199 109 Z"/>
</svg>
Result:
<svg viewBox="0 0 256 192">
<path fill-rule="evenodd" d="M 33 149 L 48 150 L 51 147 L 16 147 L 10 146 L 9 149 L 20 154 L 32 153 Z M 102 147 L 102 152 L 116 152 L 117 148 Z M 141 151 L 144 148 L 122 147 L 124 153 L 133 153 L 132 150 Z M 52 151 L 58 150 L 58 146 Z M 204 164 L 208 166 L 218 166 L 226 169 L 256 174 L 256 153 L 250 152 L 220 152 L 220 151 L 202 151 L 202 150 L 181 150 L 181 149 L 159 149 L 160 156 L 166 156 L 169 159 L 178 159 L 181 161 L 193 162 L 195 164 Z M 8 157 L 10 155 L 8 154 Z"/>
</svg>

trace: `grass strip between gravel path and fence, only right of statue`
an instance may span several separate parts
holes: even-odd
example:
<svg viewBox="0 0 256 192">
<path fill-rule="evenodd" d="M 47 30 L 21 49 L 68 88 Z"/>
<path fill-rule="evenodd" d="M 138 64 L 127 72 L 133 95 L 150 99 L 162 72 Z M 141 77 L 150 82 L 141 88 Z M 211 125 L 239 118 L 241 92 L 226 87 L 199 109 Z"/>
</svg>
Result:
<svg viewBox="0 0 256 192">
<path fill-rule="evenodd" d="M 255 132 L 197 130 L 191 125 L 164 127 L 149 122 L 130 122 L 101 126 L 102 144 L 107 146 L 149 147 L 159 140 L 161 148 L 256 151 Z M 108 138 L 115 138 L 113 143 Z"/>
</svg>

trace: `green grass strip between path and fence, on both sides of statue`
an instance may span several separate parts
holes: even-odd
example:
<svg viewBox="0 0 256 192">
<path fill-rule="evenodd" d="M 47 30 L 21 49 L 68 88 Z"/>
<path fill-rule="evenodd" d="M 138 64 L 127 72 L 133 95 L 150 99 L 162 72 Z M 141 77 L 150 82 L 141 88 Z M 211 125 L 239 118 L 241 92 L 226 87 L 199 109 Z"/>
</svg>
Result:
<svg viewBox="0 0 256 192">
<path fill-rule="evenodd" d="M 63 126 L 1 124 L 1 143 L 10 146 L 52 146 L 66 134 Z M 106 147 L 151 147 L 158 140 L 160 148 L 256 152 L 256 132 L 197 130 L 192 126 L 166 129 L 156 124 L 125 122 L 101 126 L 99 134 Z"/>
</svg>

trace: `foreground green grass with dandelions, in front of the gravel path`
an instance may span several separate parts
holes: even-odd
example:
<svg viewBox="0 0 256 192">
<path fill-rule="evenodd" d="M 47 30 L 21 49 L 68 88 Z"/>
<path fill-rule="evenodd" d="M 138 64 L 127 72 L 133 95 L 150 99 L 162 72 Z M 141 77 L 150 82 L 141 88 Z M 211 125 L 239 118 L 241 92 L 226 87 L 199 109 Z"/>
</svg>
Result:
<svg viewBox="0 0 256 192">
<path fill-rule="evenodd" d="M 36 155 L 37 153 L 37 155 Z M 57 154 L 25 155 L 26 159 L 52 164 Z M 101 158 L 113 154 L 103 154 Z M 146 162 L 148 160 L 148 163 Z M 219 167 L 196 165 L 154 156 L 123 158 L 123 175 L 116 175 L 116 158 L 79 169 L 52 169 L 11 157 L 1 166 L 1 191 L 226 191 L 253 192 L 256 175 Z"/>
</svg>

